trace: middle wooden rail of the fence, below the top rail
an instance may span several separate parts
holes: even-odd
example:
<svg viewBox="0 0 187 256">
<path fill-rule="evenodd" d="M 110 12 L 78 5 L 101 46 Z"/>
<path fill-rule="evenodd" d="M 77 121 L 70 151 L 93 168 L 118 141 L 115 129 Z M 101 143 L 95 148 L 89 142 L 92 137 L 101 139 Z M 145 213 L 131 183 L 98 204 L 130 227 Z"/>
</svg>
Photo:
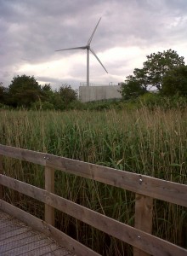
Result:
<svg viewBox="0 0 187 256">
<path fill-rule="evenodd" d="M 151 255 L 184 256 L 187 253 L 187 250 L 182 247 L 178 247 L 168 241 L 164 241 L 156 236 L 147 234 L 144 231 L 137 230 L 127 224 L 122 224 L 115 219 L 77 205 L 76 203 L 68 201 L 58 195 L 48 193 L 43 189 L 36 188 L 5 176 L 1 177 L 0 182 L 10 189 L 15 189 L 16 191 L 29 195 L 38 201 L 47 203 L 49 206 L 54 207 L 61 212 L 65 212 L 86 224 L 90 224 L 95 228 L 116 237 L 117 239 L 131 244 L 133 247 L 137 247 L 146 253 L 150 253 Z"/>
</svg>

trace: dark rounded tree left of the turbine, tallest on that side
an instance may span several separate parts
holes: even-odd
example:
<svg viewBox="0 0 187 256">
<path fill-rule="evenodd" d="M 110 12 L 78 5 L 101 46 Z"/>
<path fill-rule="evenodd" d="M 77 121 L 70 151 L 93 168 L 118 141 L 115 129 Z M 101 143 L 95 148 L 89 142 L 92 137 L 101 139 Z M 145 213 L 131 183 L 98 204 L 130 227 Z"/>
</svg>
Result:
<svg viewBox="0 0 187 256">
<path fill-rule="evenodd" d="M 30 108 L 33 102 L 40 100 L 42 91 L 33 76 L 22 75 L 14 77 L 8 87 L 8 94 L 11 106 Z"/>
</svg>

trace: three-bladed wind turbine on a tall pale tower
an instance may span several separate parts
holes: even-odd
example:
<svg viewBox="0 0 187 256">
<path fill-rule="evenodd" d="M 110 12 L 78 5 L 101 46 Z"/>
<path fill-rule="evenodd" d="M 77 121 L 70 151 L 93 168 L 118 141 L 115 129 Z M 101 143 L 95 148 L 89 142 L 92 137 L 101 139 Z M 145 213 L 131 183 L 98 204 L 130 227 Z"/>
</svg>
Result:
<svg viewBox="0 0 187 256">
<path fill-rule="evenodd" d="M 60 51 L 60 50 L 68 50 L 68 49 L 87 49 L 87 86 L 89 86 L 89 51 L 91 51 L 91 53 L 95 56 L 95 58 L 99 61 L 100 65 L 105 69 L 104 65 L 101 63 L 101 61 L 99 60 L 99 57 L 94 53 L 94 49 L 90 48 L 90 44 L 92 42 L 92 39 L 94 38 L 94 33 L 99 25 L 101 18 L 99 19 L 97 25 L 94 28 L 94 31 L 91 35 L 91 37 L 88 40 L 88 44 L 85 46 L 80 46 L 80 47 L 74 47 L 74 48 L 67 48 L 67 49 L 57 49 L 55 51 Z M 107 70 L 105 69 L 105 72 L 107 72 Z"/>
</svg>

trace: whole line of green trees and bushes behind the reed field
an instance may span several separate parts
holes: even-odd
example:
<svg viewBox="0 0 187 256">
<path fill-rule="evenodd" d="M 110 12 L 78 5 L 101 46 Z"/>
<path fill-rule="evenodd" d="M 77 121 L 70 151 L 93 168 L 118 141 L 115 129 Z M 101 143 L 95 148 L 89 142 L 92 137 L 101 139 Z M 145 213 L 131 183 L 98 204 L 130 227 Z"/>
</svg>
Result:
<svg viewBox="0 0 187 256">
<path fill-rule="evenodd" d="M 122 100 L 82 103 L 71 85 L 62 84 L 59 90 L 52 90 L 50 84 L 41 86 L 33 76 L 22 75 L 14 77 L 8 88 L 0 83 L 0 108 L 102 110 L 141 108 L 142 104 L 149 108 L 186 108 L 184 57 L 172 49 L 147 55 L 143 68 L 134 68 L 133 75 L 122 83 L 121 93 Z"/>
</svg>

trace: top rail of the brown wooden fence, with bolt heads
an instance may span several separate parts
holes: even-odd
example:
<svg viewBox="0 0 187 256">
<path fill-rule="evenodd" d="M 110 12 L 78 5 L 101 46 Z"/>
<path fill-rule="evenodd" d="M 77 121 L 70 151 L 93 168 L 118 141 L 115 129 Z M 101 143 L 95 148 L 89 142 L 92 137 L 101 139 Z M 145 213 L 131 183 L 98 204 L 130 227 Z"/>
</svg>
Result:
<svg viewBox="0 0 187 256">
<path fill-rule="evenodd" d="M 161 180 L 132 172 L 71 160 L 53 154 L 43 154 L 22 148 L 0 145 L 0 154 L 31 161 L 53 169 L 88 177 L 101 183 L 110 184 L 134 193 L 147 195 L 187 207 L 187 185 Z"/>
</svg>

